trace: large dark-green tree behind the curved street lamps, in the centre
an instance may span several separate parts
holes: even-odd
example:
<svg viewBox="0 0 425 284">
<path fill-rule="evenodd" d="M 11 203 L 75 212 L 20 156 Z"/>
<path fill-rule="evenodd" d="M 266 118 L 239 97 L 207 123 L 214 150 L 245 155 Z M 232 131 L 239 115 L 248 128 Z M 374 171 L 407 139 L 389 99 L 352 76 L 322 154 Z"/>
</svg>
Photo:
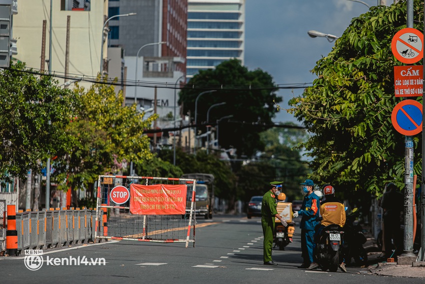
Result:
<svg viewBox="0 0 425 284">
<path fill-rule="evenodd" d="M 179 94 L 179 103 L 183 105 L 183 113 L 189 114 L 192 121 L 195 116 L 195 100 L 205 88 L 217 91 L 199 97 L 197 124 L 205 125 L 207 111 L 216 103 L 225 102 L 226 105 L 211 109 L 208 122 L 233 115 L 231 123 L 220 122 L 220 146 L 235 148 L 239 157 L 251 156 L 263 149 L 258 133 L 266 129 L 263 124 L 270 124 L 275 115 L 273 99 L 277 103 L 282 100 L 274 93 L 276 88 L 268 73 L 260 69 L 248 71 L 241 66 L 239 60 L 232 59 L 222 62 L 215 69 L 200 70 L 186 86 L 188 87 Z M 197 129 L 200 132 L 205 131 L 204 126 L 198 126 Z"/>
</svg>

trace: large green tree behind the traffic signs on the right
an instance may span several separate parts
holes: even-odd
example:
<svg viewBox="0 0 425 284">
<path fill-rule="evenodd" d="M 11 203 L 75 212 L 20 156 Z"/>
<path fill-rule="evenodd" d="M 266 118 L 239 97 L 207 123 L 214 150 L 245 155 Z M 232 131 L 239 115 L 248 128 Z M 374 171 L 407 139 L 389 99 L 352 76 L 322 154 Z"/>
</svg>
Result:
<svg viewBox="0 0 425 284">
<path fill-rule="evenodd" d="M 423 2 L 415 0 L 413 6 L 414 28 L 422 31 Z M 402 64 L 390 44 L 405 23 L 406 2 L 372 7 L 354 18 L 332 51 L 317 61 L 313 86 L 291 101 L 291 111 L 311 133 L 304 146 L 313 158 L 315 182 L 376 195 L 385 181 L 404 183 L 404 137 L 390 119 L 401 101 L 394 97 L 393 66 Z M 417 150 L 420 140 L 413 141 Z M 414 171 L 420 172 L 417 153 L 414 161 Z"/>
</svg>

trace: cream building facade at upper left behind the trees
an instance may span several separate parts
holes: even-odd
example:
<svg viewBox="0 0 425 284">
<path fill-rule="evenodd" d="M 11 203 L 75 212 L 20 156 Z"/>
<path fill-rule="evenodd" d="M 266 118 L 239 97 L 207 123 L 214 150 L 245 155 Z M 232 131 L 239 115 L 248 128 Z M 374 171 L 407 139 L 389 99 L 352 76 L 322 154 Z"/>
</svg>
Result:
<svg viewBox="0 0 425 284">
<path fill-rule="evenodd" d="M 100 45 L 103 21 L 107 15 L 107 0 L 61 0 L 52 2 L 51 59 L 49 55 L 50 0 L 19 0 L 13 17 L 13 40 L 16 41 L 15 59 L 28 68 L 48 70 L 57 75 L 65 72 L 66 25 L 69 29 L 69 77 L 96 77 L 100 66 Z M 43 42 L 43 20 L 46 21 Z M 42 54 L 42 46 L 45 53 Z M 45 61 L 42 62 L 42 59 Z M 60 79 L 59 84 L 64 80 Z M 81 82 L 89 87 L 91 83 Z"/>
</svg>

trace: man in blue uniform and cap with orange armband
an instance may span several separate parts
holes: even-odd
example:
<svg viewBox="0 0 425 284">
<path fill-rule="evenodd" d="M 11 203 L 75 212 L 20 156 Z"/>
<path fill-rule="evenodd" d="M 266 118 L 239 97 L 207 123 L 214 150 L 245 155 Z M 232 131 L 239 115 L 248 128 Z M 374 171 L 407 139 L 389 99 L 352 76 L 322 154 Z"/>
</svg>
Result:
<svg viewBox="0 0 425 284">
<path fill-rule="evenodd" d="M 298 268 L 308 268 L 313 265 L 314 256 L 314 227 L 318 224 L 318 208 L 320 206 L 319 197 L 314 194 L 314 183 L 311 179 L 306 179 L 301 184 L 302 193 L 305 195 L 301 209 L 293 212 L 293 217 L 301 216 L 299 228 L 301 229 L 301 256 L 302 264 Z M 317 266 L 316 266 L 317 267 Z M 312 269 L 312 268 L 311 268 Z"/>
</svg>

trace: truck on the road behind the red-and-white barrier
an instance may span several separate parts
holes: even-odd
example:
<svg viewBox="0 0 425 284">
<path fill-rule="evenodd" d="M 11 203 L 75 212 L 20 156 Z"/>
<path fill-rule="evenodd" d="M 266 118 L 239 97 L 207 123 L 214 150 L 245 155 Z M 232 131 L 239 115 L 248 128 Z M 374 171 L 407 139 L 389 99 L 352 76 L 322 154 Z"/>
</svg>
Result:
<svg viewBox="0 0 425 284">
<path fill-rule="evenodd" d="M 183 174 L 181 178 L 196 180 L 194 212 L 196 215 L 203 215 L 205 219 L 211 219 L 214 210 L 214 176 L 206 173 L 188 173 Z"/>
</svg>

